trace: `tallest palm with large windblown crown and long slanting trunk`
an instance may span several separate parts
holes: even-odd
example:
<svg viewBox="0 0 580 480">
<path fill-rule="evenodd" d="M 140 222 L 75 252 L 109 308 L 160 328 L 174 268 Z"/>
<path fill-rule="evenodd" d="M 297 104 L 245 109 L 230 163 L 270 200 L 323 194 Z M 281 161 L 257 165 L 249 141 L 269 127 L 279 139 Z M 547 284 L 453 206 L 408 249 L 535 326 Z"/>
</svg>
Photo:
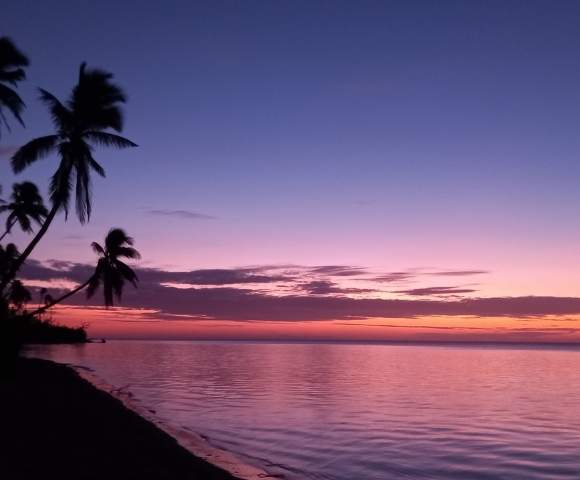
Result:
<svg viewBox="0 0 580 480">
<path fill-rule="evenodd" d="M 44 236 L 60 210 L 68 214 L 69 200 L 75 183 L 76 212 L 81 223 L 91 216 L 90 174 L 95 171 L 101 177 L 105 170 L 93 158 L 94 146 L 128 148 L 137 145 L 120 135 L 123 115 L 120 104 L 125 103 L 123 91 L 112 83 L 113 75 L 102 70 L 89 70 L 81 64 L 79 79 L 69 99 L 63 104 L 46 90 L 40 90 L 40 99 L 48 107 L 56 133 L 36 138 L 21 147 L 12 156 L 15 173 L 57 152 L 60 163 L 50 182 L 52 208 L 42 227 L 16 262 L 12 276 L 16 274 L 34 247 Z M 0 283 L 0 292 L 6 283 Z"/>
</svg>

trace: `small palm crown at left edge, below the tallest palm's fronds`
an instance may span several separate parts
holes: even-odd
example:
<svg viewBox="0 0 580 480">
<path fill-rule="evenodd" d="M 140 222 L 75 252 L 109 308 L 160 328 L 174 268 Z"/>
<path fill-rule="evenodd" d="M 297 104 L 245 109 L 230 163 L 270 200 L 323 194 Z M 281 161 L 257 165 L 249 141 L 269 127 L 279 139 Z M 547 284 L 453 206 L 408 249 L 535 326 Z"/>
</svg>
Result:
<svg viewBox="0 0 580 480">
<path fill-rule="evenodd" d="M 0 205 L 0 213 L 10 212 L 6 219 L 6 231 L 0 237 L 0 241 L 11 232 L 16 223 L 23 231 L 31 233 L 32 220 L 42 225 L 42 221 L 48 215 L 38 187 L 32 182 L 15 183 L 10 198 L 12 202 Z"/>
</svg>

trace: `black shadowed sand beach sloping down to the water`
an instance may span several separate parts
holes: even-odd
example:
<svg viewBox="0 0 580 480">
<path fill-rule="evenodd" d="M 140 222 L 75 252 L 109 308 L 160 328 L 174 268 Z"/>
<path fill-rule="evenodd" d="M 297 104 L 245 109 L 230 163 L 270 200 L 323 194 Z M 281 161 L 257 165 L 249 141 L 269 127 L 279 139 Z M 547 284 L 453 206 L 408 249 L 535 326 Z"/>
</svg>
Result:
<svg viewBox="0 0 580 480">
<path fill-rule="evenodd" d="M 0 378 L 0 472 L 6 479 L 208 479 L 229 473 L 63 365 L 20 359 Z"/>
</svg>

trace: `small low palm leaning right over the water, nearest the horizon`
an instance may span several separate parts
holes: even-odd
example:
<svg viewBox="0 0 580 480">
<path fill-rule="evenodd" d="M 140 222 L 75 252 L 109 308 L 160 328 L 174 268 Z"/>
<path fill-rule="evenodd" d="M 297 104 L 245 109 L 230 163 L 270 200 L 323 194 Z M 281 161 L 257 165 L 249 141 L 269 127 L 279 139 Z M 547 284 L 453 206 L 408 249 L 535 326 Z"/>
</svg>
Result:
<svg viewBox="0 0 580 480">
<path fill-rule="evenodd" d="M 104 247 L 97 242 L 93 242 L 91 247 L 99 256 L 99 260 L 97 261 L 94 273 L 89 279 L 56 300 L 52 300 L 50 303 L 35 310 L 32 312 L 32 315 L 39 315 L 45 312 L 52 306 L 85 288 L 87 289 L 87 297 L 91 298 L 101 285 L 103 287 L 106 307 L 114 304 L 114 297 L 120 301 L 126 281 L 137 288 L 137 275 L 129 265 L 120 260 L 120 258 L 141 258 L 139 252 L 133 248 L 133 242 L 133 239 L 120 228 L 113 228 L 109 231 L 105 237 Z"/>
</svg>

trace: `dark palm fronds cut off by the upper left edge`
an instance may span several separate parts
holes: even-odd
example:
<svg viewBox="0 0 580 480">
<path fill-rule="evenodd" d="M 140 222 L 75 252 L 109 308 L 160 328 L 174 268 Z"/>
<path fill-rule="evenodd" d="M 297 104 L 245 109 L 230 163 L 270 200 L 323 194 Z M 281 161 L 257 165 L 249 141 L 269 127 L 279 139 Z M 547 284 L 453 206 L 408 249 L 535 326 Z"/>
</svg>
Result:
<svg viewBox="0 0 580 480">
<path fill-rule="evenodd" d="M 14 118 L 24 126 L 20 116 L 24 109 L 24 102 L 8 85 L 15 87 L 18 82 L 24 80 L 26 72 L 23 67 L 27 66 L 28 58 L 16 48 L 12 40 L 8 37 L 0 37 L 0 127 L 4 123 L 8 130 L 10 130 L 10 125 L 4 115 L 4 109 L 10 111 Z"/>
</svg>

